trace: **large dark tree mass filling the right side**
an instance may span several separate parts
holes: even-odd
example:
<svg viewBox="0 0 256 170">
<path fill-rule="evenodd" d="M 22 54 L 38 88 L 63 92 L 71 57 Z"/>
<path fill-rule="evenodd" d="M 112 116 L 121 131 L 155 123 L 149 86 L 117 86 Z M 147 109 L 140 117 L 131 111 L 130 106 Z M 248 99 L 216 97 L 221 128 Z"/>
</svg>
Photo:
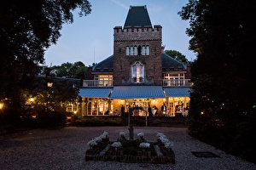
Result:
<svg viewBox="0 0 256 170">
<path fill-rule="evenodd" d="M 251 161 L 256 161 L 247 151 L 256 151 L 255 9 L 252 1 L 189 0 L 178 13 L 189 20 L 189 48 L 197 53 L 191 66 L 189 133 L 216 139 Z"/>
</svg>

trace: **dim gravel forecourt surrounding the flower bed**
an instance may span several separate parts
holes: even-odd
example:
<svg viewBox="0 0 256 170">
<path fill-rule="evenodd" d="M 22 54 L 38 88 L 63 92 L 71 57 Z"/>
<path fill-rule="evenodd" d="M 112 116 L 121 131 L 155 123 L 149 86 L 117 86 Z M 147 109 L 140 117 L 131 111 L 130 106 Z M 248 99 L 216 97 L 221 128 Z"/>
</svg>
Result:
<svg viewBox="0 0 256 170">
<path fill-rule="evenodd" d="M 36 129 L 24 133 L 0 136 L 0 169 L 84 169 L 84 170 L 165 170 L 165 169 L 230 169 L 256 170 L 256 165 L 230 156 L 211 145 L 191 138 L 186 127 L 134 127 L 137 133 L 143 132 L 145 139 L 156 141 L 157 133 L 166 134 L 172 140 L 176 164 L 121 163 L 116 161 L 85 161 L 87 142 L 108 132 L 110 140 L 116 140 L 119 132 L 128 127 L 64 127 L 55 130 Z M 202 158 L 191 151 L 211 151 L 219 157 Z"/>
</svg>

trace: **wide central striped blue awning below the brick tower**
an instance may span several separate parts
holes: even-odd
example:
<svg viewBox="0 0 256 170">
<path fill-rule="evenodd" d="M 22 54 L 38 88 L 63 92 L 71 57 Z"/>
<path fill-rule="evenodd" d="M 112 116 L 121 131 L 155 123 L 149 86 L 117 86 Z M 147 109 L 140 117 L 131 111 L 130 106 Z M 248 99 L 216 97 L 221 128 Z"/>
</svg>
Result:
<svg viewBox="0 0 256 170">
<path fill-rule="evenodd" d="M 161 86 L 118 86 L 113 87 L 110 99 L 166 98 Z"/>
</svg>

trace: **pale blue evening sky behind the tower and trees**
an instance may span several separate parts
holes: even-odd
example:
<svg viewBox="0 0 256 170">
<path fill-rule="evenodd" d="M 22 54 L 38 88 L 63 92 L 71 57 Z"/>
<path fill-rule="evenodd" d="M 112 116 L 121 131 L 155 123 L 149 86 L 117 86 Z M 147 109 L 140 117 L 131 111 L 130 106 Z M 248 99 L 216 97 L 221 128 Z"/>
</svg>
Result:
<svg viewBox="0 0 256 170">
<path fill-rule="evenodd" d="M 88 66 L 113 54 L 113 27 L 124 26 L 130 6 L 147 6 L 152 25 L 162 26 L 165 49 L 177 50 L 194 60 L 185 33 L 188 20 L 177 14 L 188 0 L 89 0 L 91 13 L 79 17 L 74 11 L 73 24 L 65 24 L 56 44 L 46 50 L 45 65 L 61 65 L 82 61 Z"/>
</svg>

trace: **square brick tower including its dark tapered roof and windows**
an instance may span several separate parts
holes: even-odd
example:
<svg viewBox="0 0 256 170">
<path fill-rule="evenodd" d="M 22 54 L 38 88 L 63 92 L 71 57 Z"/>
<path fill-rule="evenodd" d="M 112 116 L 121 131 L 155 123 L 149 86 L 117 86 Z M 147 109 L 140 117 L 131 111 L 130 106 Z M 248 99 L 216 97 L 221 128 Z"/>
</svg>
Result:
<svg viewBox="0 0 256 170">
<path fill-rule="evenodd" d="M 113 28 L 114 86 L 161 85 L 162 27 L 152 26 L 146 6 L 131 6 L 125 26 Z"/>
</svg>

